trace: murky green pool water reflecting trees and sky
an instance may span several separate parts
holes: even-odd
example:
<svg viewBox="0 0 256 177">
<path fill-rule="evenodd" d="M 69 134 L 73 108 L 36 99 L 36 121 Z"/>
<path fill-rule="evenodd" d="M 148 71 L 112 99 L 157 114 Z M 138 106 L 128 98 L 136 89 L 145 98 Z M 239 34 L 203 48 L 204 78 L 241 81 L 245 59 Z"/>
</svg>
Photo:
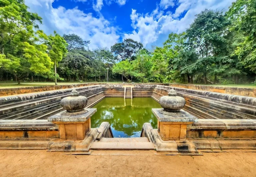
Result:
<svg viewBox="0 0 256 177">
<path fill-rule="evenodd" d="M 157 128 L 157 118 L 152 108 L 161 108 L 153 98 L 104 98 L 92 108 L 97 112 L 91 117 L 91 127 L 97 128 L 102 122 L 109 122 L 115 138 L 140 137 L 143 123 Z"/>
</svg>

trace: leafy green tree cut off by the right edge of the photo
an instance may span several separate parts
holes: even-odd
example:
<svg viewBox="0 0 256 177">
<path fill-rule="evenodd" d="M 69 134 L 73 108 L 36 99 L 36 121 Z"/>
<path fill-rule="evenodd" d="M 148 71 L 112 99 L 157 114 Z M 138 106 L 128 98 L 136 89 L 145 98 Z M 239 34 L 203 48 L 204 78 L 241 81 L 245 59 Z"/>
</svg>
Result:
<svg viewBox="0 0 256 177">
<path fill-rule="evenodd" d="M 232 20 L 231 30 L 238 30 L 245 36 L 235 50 L 235 54 L 246 68 L 256 73 L 256 1 L 237 0 L 232 3 L 227 16 Z"/>
</svg>

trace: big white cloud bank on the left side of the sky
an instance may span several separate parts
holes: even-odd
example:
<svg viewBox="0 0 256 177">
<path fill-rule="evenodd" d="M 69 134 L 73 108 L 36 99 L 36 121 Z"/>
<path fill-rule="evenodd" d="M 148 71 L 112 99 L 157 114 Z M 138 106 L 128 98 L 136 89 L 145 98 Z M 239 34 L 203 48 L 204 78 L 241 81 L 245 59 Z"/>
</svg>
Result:
<svg viewBox="0 0 256 177">
<path fill-rule="evenodd" d="M 90 49 L 108 47 L 118 42 L 120 36 L 117 29 L 103 16 L 96 18 L 91 13 L 84 13 L 78 8 L 65 9 L 60 6 L 53 8 L 54 0 L 26 0 L 30 11 L 36 12 L 43 18 L 41 29 L 46 34 L 54 30 L 62 34 L 77 34 L 84 40 L 90 40 Z"/>
</svg>

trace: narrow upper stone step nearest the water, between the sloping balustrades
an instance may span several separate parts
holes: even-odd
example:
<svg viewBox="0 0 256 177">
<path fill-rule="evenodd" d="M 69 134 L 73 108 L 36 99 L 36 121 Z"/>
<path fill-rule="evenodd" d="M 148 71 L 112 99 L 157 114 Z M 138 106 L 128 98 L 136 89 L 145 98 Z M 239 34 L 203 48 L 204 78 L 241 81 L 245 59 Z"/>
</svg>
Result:
<svg viewBox="0 0 256 177">
<path fill-rule="evenodd" d="M 119 142 L 119 143 L 127 143 L 127 142 L 149 142 L 147 137 L 133 137 L 133 138 L 101 138 L 100 141 L 103 143 L 109 142 Z"/>
</svg>

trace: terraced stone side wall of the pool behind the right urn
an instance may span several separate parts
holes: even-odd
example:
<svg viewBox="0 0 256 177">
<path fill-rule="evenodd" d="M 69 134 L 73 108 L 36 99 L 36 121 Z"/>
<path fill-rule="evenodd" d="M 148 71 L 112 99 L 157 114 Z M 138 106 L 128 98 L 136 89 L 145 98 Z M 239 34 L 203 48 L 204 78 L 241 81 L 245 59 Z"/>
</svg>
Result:
<svg viewBox="0 0 256 177">
<path fill-rule="evenodd" d="M 253 97 L 156 86 L 152 98 L 159 102 L 172 88 L 185 98 L 184 110 L 199 119 L 256 119 L 256 98 Z"/>
</svg>

